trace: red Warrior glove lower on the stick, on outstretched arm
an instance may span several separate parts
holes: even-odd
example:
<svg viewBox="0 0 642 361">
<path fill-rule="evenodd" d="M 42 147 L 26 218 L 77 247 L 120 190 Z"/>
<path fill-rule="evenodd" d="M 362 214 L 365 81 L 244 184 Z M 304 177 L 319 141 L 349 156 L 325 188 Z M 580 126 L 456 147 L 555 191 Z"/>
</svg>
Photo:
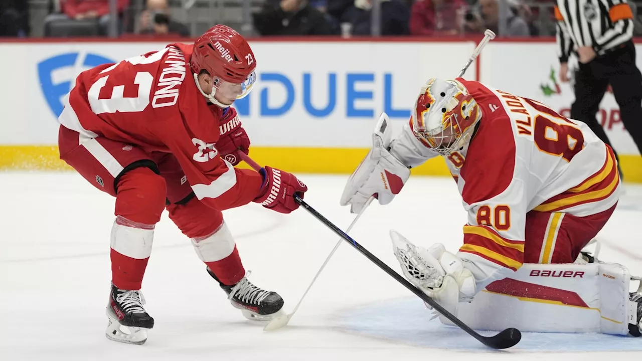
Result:
<svg viewBox="0 0 642 361">
<path fill-rule="evenodd" d="M 279 213 L 290 213 L 299 208 L 294 195 L 303 198 L 308 187 L 294 175 L 269 166 L 261 168 L 263 186 L 254 202 Z"/>
</svg>

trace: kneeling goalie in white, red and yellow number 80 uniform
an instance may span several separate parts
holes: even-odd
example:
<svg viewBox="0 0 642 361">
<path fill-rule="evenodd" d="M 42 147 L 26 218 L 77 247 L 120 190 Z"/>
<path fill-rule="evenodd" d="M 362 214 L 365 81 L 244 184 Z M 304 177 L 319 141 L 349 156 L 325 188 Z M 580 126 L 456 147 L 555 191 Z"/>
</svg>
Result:
<svg viewBox="0 0 642 361">
<path fill-rule="evenodd" d="M 415 286 L 474 328 L 640 335 L 642 286 L 629 289 L 639 278 L 580 254 L 621 191 L 611 148 L 584 123 L 480 82 L 432 78 L 403 132 L 391 132 L 382 114 L 341 204 L 388 204 L 409 168 L 442 155 L 468 213 L 456 254 L 390 232 Z"/>
</svg>

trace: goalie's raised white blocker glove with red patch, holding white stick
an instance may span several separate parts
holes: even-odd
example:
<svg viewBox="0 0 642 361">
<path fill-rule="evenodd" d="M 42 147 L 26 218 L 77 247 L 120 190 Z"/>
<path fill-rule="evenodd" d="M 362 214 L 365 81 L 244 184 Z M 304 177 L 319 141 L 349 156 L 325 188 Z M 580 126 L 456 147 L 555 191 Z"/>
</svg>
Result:
<svg viewBox="0 0 642 361">
<path fill-rule="evenodd" d="M 351 206 L 351 213 L 360 213 L 368 198 L 375 197 L 385 205 L 401 191 L 410 177 L 410 170 L 390 154 L 392 128 L 388 116 L 381 113 L 372 134 L 372 149 L 361 161 L 343 189 L 341 205 Z"/>
</svg>

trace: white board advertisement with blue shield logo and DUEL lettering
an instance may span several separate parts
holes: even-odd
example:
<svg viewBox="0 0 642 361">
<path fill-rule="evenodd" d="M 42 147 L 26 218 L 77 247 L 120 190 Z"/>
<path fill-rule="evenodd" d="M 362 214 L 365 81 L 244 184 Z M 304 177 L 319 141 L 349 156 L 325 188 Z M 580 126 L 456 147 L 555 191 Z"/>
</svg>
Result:
<svg viewBox="0 0 642 361">
<path fill-rule="evenodd" d="M 1 90 L 7 121 L 0 123 L 0 144 L 55 145 L 57 117 L 80 72 L 165 45 L 0 44 L 12 54 L 0 59 L 12 84 Z M 252 48 L 258 82 L 234 105 L 252 144 L 365 148 L 381 112 L 401 127 L 426 79 L 456 76 L 474 44 L 259 41 Z M 475 71 L 471 66 L 467 78 Z"/>
</svg>

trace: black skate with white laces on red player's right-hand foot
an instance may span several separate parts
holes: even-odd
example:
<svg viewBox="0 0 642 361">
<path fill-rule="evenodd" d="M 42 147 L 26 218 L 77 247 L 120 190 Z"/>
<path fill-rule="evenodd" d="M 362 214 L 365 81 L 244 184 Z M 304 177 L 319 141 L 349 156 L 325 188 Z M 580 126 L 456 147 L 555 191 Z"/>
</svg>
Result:
<svg viewBox="0 0 642 361">
<path fill-rule="evenodd" d="M 227 298 L 232 306 L 238 308 L 246 319 L 252 321 L 271 321 L 277 316 L 282 315 L 283 299 L 279 294 L 272 291 L 263 290 L 252 285 L 247 277 L 250 271 L 236 285 L 223 285 L 218 280 L 214 272 L 207 267 L 207 273 L 216 279 L 218 284 L 227 294 Z"/>
</svg>

